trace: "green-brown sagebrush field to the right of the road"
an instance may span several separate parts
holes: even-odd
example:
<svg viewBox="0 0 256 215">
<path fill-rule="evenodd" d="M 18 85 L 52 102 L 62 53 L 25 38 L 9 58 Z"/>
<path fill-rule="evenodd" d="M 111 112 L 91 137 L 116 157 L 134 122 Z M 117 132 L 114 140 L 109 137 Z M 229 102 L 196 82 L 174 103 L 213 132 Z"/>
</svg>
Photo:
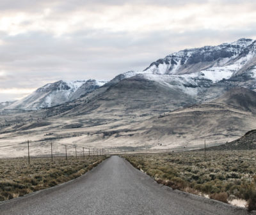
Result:
<svg viewBox="0 0 256 215">
<path fill-rule="evenodd" d="M 228 202 L 229 196 L 256 209 L 256 151 L 202 151 L 124 155 L 157 182 L 193 194 Z"/>
</svg>

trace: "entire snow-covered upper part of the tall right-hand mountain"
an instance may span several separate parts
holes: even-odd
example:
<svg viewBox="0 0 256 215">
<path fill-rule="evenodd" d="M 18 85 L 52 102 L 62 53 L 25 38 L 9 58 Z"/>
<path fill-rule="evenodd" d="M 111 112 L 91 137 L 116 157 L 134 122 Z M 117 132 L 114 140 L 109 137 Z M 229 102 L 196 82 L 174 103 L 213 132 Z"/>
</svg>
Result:
<svg viewBox="0 0 256 215">
<path fill-rule="evenodd" d="M 185 49 L 153 62 L 143 71 L 129 71 L 116 79 L 141 77 L 159 82 L 191 96 L 205 94 L 211 87 L 237 86 L 256 89 L 256 40 L 242 38 L 218 46 Z M 205 93 L 207 91 L 207 93 Z"/>
</svg>

